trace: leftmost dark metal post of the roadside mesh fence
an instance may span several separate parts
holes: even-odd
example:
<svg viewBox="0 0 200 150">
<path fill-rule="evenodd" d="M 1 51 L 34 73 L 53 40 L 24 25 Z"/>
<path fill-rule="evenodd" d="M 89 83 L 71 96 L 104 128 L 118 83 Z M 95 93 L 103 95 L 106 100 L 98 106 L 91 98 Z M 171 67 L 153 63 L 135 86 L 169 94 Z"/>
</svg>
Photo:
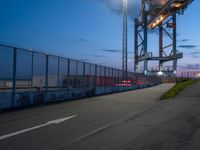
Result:
<svg viewBox="0 0 200 150">
<path fill-rule="evenodd" d="M 14 102 L 16 99 L 16 68 L 17 68 L 17 48 L 14 48 L 13 49 L 13 93 L 12 93 L 11 107 L 14 106 Z"/>
</svg>

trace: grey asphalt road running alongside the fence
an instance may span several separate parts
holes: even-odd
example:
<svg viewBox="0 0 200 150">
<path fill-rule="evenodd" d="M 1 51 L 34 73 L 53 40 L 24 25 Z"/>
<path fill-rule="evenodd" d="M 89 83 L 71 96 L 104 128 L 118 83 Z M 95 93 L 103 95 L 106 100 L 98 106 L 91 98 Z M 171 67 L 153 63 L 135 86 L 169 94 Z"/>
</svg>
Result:
<svg viewBox="0 0 200 150">
<path fill-rule="evenodd" d="M 199 150 L 200 83 L 173 84 L 0 114 L 0 150 Z"/>
</svg>

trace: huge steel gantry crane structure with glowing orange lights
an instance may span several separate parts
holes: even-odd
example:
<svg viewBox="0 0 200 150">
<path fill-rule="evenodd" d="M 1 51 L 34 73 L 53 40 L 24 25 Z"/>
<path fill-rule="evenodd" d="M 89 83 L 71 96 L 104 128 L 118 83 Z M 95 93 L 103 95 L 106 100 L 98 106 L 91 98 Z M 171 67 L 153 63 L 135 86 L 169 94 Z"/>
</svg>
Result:
<svg viewBox="0 0 200 150">
<path fill-rule="evenodd" d="M 144 74 L 165 72 L 167 75 L 176 75 L 177 60 L 183 57 L 177 51 L 176 17 L 183 14 L 193 0 L 142 0 L 140 15 L 135 19 L 135 72 L 139 71 L 139 63 L 143 62 Z M 158 28 L 159 55 L 155 57 L 148 52 L 148 31 Z M 165 36 L 166 35 L 166 36 Z M 164 43 L 168 38 L 170 44 Z M 158 61 L 159 70 L 149 71 L 148 61 Z M 164 70 L 165 62 L 172 62 L 172 70 Z"/>
</svg>

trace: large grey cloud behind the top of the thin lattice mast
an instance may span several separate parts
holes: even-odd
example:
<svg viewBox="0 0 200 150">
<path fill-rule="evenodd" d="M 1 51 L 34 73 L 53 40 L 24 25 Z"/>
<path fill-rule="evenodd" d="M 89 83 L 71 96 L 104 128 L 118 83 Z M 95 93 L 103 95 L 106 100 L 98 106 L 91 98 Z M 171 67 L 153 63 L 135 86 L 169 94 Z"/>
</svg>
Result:
<svg viewBox="0 0 200 150">
<path fill-rule="evenodd" d="M 106 5 L 107 8 L 116 15 L 122 15 L 123 12 L 122 0 L 97 0 L 97 1 Z M 128 1 L 128 14 L 131 19 L 138 16 L 139 11 L 140 11 L 140 1 L 135 1 L 135 0 Z"/>
</svg>

